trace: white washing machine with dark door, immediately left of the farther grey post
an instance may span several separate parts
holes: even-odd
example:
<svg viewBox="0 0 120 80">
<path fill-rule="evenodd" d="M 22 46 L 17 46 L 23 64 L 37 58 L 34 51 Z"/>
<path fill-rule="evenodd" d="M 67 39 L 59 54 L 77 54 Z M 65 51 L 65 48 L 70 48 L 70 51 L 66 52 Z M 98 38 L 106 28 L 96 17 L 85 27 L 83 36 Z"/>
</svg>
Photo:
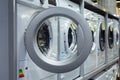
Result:
<svg viewBox="0 0 120 80">
<path fill-rule="evenodd" d="M 96 38 L 96 52 L 97 52 L 97 66 L 102 66 L 105 63 L 105 18 L 102 15 L 96 14 L 98 17 L 97 38 Z"/>
</svg>

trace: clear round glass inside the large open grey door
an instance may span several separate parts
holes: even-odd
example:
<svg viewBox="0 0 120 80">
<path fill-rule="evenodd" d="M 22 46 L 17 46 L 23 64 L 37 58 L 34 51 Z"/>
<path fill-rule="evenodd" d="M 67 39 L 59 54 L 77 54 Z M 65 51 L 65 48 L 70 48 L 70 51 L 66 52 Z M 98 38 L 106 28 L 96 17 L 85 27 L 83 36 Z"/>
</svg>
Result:
<svg viewBox="0 0 120 80">
<path fill-rule="evenodd" d="M 44 56 L 61 61 L 77 55 L 78 26 L 75 22 L 59 16 L 48 18 L 38 26 L 37 46 Z"/>
</svg>

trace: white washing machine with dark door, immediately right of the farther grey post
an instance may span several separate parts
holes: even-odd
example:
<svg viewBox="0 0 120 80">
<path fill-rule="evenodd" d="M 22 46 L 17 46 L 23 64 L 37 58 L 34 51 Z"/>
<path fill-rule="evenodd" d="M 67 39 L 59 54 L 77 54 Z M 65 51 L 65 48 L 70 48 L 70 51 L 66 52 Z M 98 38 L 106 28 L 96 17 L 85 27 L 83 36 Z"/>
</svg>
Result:
<svg viewBox="0 0 120 80">
<path fill-rule="evenodd" d="M 108 19 L 108 27 L 107 27 L 107 57 L 108 61 L 111 61 L 114 56 L 114 22 L 112 19 Z"/>
</svg>

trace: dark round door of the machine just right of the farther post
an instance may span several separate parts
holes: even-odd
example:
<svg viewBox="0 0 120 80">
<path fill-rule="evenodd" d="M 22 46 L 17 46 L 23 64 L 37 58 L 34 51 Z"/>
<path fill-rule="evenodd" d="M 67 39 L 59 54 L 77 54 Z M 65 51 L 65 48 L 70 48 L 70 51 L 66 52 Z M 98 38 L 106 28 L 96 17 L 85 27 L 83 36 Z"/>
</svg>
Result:
<svg viewBox="0 0 120 80">
<path fill-rule="evenodd" d="M 114 33 L 113 33 L 113 27 L 109 26 L 108 29 L 108 44 L 109 44 L 109 48 L 112 49 L 113 45 L 114 45 Z"/>
</svg>

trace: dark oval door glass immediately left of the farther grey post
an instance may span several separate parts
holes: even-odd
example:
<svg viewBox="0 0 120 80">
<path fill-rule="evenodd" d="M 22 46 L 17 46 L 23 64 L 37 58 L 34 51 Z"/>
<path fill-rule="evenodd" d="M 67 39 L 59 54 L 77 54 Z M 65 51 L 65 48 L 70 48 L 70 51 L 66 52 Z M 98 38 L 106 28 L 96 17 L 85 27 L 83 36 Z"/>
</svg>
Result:
<svg viewBox="0 0 120 80">
<path fill-rule="evenodd" d="M 105 50 L 105 26 L 104 24 L 100 24 L 100 32 L 99 32 L 99 44 L 101 51 Z"/>
</svg>

